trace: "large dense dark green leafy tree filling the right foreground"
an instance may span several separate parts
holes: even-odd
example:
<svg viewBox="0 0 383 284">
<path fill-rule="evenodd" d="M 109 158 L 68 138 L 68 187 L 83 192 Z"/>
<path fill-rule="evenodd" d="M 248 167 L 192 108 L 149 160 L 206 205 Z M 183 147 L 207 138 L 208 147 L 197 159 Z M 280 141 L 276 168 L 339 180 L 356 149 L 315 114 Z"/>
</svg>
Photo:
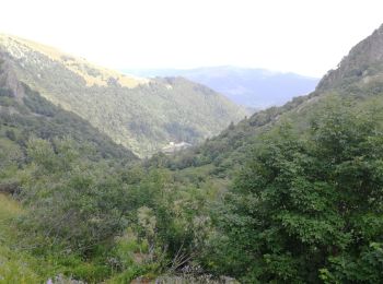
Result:
<svg viewBox="0 0 383 284">
<path fill-rule="evenodd" d="M 379 281 L 382 138 L 373 111 L 340 104 L 303 137 L 286 125 L 263 135 L 217 216 L 231 248 L 219 270 L 251 282 Z"/>
</svg>

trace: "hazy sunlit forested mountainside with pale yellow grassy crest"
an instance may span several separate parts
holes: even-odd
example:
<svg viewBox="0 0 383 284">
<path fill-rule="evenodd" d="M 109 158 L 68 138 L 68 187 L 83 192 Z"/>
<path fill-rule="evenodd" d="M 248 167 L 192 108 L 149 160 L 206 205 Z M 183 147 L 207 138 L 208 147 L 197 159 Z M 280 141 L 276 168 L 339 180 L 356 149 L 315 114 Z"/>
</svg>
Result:
<svg viewBox="0 0 383 284">
<path fill-rule="evenodd" d="M 0 49 L 18 79 L 140 156 L 172 141 L 194 144 L 246 115 L 223 96 L 181 78 L 121 75 L 7 35 L 0 36 Z"/>
</svg>

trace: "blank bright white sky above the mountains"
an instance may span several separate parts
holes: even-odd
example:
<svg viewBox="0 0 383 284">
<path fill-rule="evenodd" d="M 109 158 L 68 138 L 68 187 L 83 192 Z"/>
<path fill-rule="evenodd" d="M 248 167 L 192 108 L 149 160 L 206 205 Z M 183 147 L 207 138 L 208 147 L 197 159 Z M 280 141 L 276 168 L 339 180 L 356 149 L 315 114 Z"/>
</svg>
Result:
<svg viewBox="0 0 383 284">
<path fill-rule="evenodd" d="M 1 0 L 0 33 L 113 69 L 322 76 L 383 23 L 382 0 Z"/>
</svg>

